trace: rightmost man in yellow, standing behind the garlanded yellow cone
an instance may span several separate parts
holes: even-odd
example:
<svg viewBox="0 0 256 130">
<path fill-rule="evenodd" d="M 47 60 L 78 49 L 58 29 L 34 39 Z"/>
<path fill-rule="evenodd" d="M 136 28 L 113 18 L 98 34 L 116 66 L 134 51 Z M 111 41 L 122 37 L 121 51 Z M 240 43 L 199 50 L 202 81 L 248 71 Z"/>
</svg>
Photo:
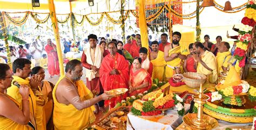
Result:
<svg viewBox="0 0 256 130">
<path fill-rule="evenodd" d="M 228 44 L 228 42 L 226 41 L 221 42 L 220 46 L 218 47 L 219 52 L 216 56 L 218 64 L 218 74 L 227 71 L 228 60 L 230 60 L 231 58 L 231 52 L 229 49 L 230 44 Z"/>
</svg>

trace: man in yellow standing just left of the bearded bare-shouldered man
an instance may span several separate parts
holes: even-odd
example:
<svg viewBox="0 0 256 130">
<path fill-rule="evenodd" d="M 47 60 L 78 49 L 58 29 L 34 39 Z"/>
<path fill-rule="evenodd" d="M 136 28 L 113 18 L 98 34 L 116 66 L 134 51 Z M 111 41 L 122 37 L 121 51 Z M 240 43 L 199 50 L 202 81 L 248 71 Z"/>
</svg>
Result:
<svg viewBox="0 0 256 130">
<path fill-rule="evenodd" d="M 150 61 L 153 64 L 152 79 L 158 78 L 159 81 L 164 81 L 164 69 L 166 62 L 164 61 L 164 52 L 159 50 L 157 41 L 151 44 L 152 52 L 150 53 Z"/>
</svg>

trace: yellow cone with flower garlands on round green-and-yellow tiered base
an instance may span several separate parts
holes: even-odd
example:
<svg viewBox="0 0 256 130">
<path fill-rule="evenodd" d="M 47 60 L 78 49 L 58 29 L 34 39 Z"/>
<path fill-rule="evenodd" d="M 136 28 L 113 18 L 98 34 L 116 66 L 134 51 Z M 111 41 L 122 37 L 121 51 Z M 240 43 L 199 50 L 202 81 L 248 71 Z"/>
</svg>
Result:
<svg viewBox="0 0 256 130">
<path fill-rule="evenodd" d="M 241 81 L 234 67 L 230 68 L 225 81 L 216 88 L 209 88 L 204 112 L 214 118 L 236 123 L 249 123 L 256 116 L 256 88 Z"/>
</svg>

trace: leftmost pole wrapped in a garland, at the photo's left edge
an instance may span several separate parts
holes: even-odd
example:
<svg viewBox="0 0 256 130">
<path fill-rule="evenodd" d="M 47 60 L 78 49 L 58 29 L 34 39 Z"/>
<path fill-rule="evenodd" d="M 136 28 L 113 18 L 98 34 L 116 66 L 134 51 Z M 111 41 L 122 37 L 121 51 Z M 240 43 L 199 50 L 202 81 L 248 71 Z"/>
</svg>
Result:
<svg viewBox="0 0 256 130">
<path fill-rule="evenodd" d="M 6 26 L 5 26 L 4 12 L 0 13 L 0 24 L 1 24 L 1 30 L 3 32 L 2 35 L 4 37 L 5 48 L 6 48 L 6 52 L 7 52 L 7 63 L 11 67 L 11 52 L 10 52 L 10 48 L 9 48 L 9 44 L 8 44 L 8 40 L 7 40 L 8 35 L 7 35 L 7 31 L 6 31 Z"/>
</svg>

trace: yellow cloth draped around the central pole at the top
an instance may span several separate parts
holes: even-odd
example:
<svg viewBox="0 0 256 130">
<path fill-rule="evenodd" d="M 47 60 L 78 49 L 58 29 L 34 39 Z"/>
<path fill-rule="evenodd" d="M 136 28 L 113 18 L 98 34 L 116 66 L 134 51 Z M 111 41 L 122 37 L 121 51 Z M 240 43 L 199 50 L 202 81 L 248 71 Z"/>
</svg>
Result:
<svg viewBox="0 0 256 130">
<path fill-rule="evenodd" d="M 147 23 L 145 15 L 145 0 L 139 1 L 139 29 L 142 47 L 149 49 L 149 36 L 147 34 Z"/>
</svg>

